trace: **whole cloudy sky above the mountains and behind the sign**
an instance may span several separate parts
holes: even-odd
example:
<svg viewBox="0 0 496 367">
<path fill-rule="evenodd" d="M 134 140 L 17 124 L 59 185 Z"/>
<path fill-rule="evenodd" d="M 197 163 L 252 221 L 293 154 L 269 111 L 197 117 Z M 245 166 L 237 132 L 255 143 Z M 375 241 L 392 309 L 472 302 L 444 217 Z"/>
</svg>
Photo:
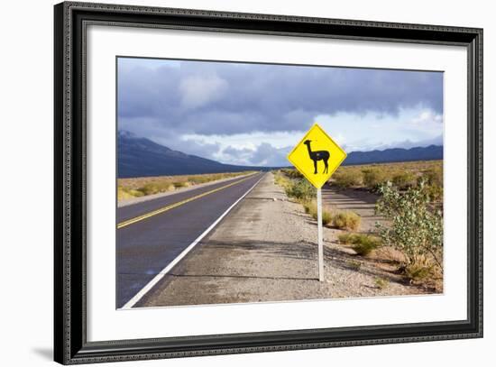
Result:
<svg viewBox="0 0 496 367">
<path fill-rule="evenodd" d="M 345 151 L 443 142 L 443 74 L 118 60 L 118 128 L 241 165 L 287 165 L 320 124 Z"/>
</svg>

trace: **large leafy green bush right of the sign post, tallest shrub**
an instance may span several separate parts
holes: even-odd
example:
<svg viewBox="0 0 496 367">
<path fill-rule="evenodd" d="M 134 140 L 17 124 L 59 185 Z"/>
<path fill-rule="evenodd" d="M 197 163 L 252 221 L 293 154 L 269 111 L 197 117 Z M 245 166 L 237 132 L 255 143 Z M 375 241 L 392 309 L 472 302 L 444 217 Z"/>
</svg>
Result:
<svg viewBox="0 0 496 367">
<path fill-rule="evenodd" d="M 433 267 L 442 271 L 443 215 L 430 205 L 424 181 L 406 192 L 388 183 L 381 186 L 380 193 L 376 212 L 385 216 L 390 224 L 376 226 L 382 242 L 404 254 L 403 269 L 407 275 L 410 272 L 421 278 L 420 269 L 427 274 Z"/>
</svg>

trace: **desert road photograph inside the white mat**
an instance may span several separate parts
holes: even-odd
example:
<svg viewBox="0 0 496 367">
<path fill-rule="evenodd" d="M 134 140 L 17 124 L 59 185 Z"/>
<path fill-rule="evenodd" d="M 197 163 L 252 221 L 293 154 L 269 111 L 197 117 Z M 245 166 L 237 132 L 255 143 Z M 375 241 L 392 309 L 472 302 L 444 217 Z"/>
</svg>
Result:
<svg viewBox="0 0 496 367">
<path fill-rule="evenodd" d="M 444 293 L 443 70 L 115 64 L 116 309 Z"/>
</svg>

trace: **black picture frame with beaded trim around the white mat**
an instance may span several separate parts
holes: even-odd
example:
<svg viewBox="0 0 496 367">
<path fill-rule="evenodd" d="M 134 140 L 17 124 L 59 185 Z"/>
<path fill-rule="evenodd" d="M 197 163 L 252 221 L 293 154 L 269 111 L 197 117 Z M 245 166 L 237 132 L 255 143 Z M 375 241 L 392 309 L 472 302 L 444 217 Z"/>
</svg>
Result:
<svg viewBox="0 0 496 367">
<path fill-rule="evenodd" d="M 63 364 L 482 337 L 482 29 L 65 2 L 54 6 L 54 359 Z M 87 24 L 464 46 L 468 53 L 468 316 L 464 320 L 87 341 Z"/>
</svg>

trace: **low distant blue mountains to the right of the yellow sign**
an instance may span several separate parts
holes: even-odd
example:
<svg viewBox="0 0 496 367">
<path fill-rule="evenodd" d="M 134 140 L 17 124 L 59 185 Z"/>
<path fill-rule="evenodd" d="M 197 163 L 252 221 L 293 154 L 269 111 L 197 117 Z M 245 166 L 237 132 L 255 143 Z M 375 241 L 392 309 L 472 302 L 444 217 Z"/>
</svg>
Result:
<svg viewBox="0 0 496 367">
<path fill-rule="evenodd" d="M 443 159 L 442 145 L 429 145 L 410 149 L 393 148 L 384 151 L 352 151 L 344 165 L 387 163 L 395 161 L 433 161 Z"/>
</svg>

